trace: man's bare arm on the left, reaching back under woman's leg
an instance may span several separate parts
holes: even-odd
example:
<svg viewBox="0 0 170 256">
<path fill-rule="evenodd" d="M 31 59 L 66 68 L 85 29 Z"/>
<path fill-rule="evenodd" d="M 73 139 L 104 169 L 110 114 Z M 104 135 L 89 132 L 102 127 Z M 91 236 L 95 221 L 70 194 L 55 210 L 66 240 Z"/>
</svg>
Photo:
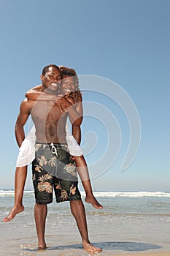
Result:
<svg viewBox="0 0 170 256">
<path fill-rule="evenodd" d="M 28 116 L 30 115 L 30 113 L 30 103 L 28 102 L 28 99 L 24 99 L 20 105 L 20 113 L 15 124 L 15 138 L 17 140 L 19 147 L 25 139 L 25 132 L 23 127 L 26 124 L 26 121 L 28 120 Z"/>
</svg>

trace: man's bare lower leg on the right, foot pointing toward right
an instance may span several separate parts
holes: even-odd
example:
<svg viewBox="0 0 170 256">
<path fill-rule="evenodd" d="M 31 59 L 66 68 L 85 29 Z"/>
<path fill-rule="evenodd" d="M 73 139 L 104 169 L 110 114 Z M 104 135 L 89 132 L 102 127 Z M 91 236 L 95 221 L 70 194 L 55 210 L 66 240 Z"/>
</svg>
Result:
<svg viewBox="0 0 170 256">
<path fill-rule="evenodd" d="M 85 208 L 82 203 L 82 200 L 72 200 L 70 201 L 70 208 L 72 214 L 77 222 L 77 227 L 80 231 L 80 235 L 82 236 L 82 246 L 83 248 L 90 253 L 98 253 L 101 252 L 101 248 L 95 247 L 90 244 L 88 238 L 88 226 L 85 217 Z"/>
</svg>

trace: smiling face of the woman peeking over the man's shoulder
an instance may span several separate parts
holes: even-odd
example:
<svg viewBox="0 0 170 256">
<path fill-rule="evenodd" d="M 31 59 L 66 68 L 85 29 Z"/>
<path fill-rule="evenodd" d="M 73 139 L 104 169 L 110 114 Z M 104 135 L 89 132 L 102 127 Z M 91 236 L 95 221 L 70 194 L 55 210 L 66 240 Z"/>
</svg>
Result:
<svg viewBox="0 0 170 256">
<path fill-rule="evenodd" d="M 69 75 L 63 75 L 63 79 L 61 82 L 61 91 L 63 91 L 63 94 L 70 94 L 74 90 L 74 77 Z"/>
</svg>

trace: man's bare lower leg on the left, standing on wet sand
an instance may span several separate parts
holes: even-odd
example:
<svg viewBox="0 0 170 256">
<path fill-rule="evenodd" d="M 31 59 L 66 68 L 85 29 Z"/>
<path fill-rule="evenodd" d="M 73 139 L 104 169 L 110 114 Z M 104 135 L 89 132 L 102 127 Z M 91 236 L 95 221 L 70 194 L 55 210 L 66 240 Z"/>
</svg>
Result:
<svg viewBox="0 0 170 256">
<path fill-rule="evenodd" d="M 35 204 L 34 217 L 36 222 L 36 233 L 38 237 L 38 249 L 45 249 L 45 221 L 47 217 L 47 205 Z"/>
</svg>

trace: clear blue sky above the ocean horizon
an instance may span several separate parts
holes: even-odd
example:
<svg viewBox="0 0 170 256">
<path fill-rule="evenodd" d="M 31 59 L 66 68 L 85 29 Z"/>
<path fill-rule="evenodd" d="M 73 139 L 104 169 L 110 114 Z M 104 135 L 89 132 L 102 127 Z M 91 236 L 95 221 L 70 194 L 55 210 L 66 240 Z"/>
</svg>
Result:
<svg viewBox="0 0 170 256">
<path fill-rule="evenodd" d="M 93 189 L 169 191 L 170 1 L 0 0 L 0 4 L 0 189 L 14 188 L 18 155 L 14 127 L 25 92 L 40 83 L 42 67 L 63 64 L 79 75 L 115 81 L 134 101 L 140 116 L 139 151 L 122 172 L 129 143 L 125 115 L 109 98 L 83 92 L 85 102 L 106 105 L 122 133 L 120 154 L 107 172 L 93 178 Z M 104 86 L 109 94 L 107 83 Z M 90 164 L 106 148 L 106 129 L 98 118 L 85 117 L 82 146 L 88 131 L 97 138 L 96 149 L 85 156 Z M 98 165 L 98 172 L 102 171 Z M 31 167 L 26 189 L 32 189 Z"/>
</svg>

